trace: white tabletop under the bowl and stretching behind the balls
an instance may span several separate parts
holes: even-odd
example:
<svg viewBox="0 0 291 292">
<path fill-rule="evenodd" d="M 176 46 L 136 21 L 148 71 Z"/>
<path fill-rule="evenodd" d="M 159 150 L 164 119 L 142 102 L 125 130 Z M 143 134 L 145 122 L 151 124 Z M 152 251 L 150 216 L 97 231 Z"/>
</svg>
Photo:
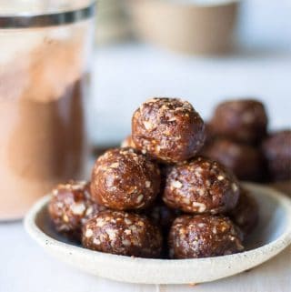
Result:
<svg viewBox="0 0 291 292">
<path fill-rule="evenodd" d="M 290 53 L 204 59 L 146 45 L 118 45 L 99 49 L 95 67 L 93 136 L 99 144 L 129 133 L 132 111 L 148 96 L 185 97 L 205 117 L 226 96 L 259 96 L 266 102 L 272 128 L 290 126 Z M 25 234 L 20 222 L 0 224 L 0 263 L 0 292 L 287 292 L 291 287 L 291 247 L 250 272 L 215 283 L 139 286 L 85 275 L 58 262 Z"/>
</svg>

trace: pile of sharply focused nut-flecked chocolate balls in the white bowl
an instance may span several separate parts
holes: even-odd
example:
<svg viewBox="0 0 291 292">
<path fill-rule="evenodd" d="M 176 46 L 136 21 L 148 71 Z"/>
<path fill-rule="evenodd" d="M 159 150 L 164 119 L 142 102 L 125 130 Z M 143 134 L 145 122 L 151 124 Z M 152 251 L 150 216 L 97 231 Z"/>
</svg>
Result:
<svg viewBox="0 0 291 292">
<path fill-rule="evenodd" d="M 258 206 L 231 170 L 201 156 L 205 140 L 204 121 L 188 102 L 147 100 L 122 147 L 95 161 L 90 183 L 55 188 L 48 210 L 56 230 L 86 248 L 133 257 L 244 250 Z"/>
</svg>

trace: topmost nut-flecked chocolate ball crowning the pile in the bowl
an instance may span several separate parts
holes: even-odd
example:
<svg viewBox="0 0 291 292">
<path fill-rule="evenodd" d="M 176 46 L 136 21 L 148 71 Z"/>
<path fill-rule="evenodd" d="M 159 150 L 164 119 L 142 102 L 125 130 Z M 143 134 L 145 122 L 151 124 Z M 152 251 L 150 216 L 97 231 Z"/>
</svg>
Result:
<svg viewBox="0 0 291 292">
<path fill-rule="evenodd" d="M 204 144 L 205 125 L 188 102 L 152 98 L 134 113 L 132 138 L 143 153 L 166 163 L 196 155 Z"/>
</svg>

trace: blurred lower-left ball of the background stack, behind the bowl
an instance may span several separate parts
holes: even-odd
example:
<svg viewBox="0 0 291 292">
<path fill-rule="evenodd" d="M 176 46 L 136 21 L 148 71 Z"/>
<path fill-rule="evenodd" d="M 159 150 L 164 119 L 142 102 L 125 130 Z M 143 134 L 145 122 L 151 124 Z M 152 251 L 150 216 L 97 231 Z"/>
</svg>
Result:
<svg viewBox="0 0 291 292">
<path fill-rule="evenodd" d="M 238 179 L 260 181 L 264 176 L 264 159 L 257 147 L 217 138 L 202 152 L 231 169 Z"/>
</svg>

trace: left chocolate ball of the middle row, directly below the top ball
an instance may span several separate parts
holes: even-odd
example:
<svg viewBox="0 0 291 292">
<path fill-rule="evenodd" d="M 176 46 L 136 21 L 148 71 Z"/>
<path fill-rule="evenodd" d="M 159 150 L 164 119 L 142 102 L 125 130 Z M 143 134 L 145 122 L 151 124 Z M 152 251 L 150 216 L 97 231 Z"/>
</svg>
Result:
<svg viewBox="0 0 291 292">
<path fill-rule="evenodd" d="M 158 166 L 133 148 L 105 152 L 95 161 L 91 192 L 100 205 L 115 210 L 149 206 L 160 190 Z"/>
</svg>

